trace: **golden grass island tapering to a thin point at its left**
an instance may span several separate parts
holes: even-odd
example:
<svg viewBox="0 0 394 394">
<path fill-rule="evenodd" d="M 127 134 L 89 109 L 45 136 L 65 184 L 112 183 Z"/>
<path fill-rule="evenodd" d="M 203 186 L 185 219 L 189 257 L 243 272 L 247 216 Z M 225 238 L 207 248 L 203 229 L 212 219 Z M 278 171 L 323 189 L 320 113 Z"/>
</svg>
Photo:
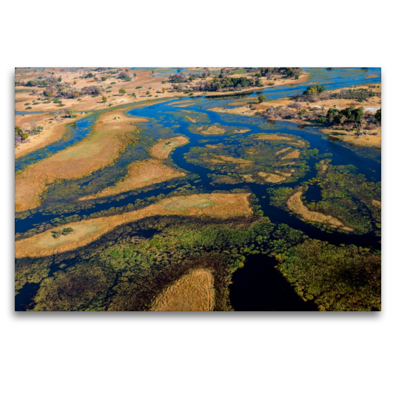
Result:
<svg viewBox="0 0 394 394">
<path fill-rule="evenodd" d="M 160 160 L 141 160 L 129 164 L 127 175 L 117 184 L 107 187 L 96 194 L 81 197 L 79 200 L 114 196 L 182 176 L 186 176 L 186 174 L 163 164 Z"/>
</svg>

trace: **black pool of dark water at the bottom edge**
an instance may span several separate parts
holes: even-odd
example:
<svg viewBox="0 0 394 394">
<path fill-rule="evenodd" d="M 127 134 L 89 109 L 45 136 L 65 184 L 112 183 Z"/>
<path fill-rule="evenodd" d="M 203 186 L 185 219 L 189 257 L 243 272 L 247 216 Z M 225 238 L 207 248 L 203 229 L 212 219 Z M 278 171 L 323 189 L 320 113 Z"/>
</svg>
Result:
<svg viewBox="0 0 394 394">
<path fill-rule="evenodd" d="M 317 311 L 303 301 L 275 268 L 273 257 L 254 255 L 232 275 L 230 302 L 235 311 Z"/>
</svg>

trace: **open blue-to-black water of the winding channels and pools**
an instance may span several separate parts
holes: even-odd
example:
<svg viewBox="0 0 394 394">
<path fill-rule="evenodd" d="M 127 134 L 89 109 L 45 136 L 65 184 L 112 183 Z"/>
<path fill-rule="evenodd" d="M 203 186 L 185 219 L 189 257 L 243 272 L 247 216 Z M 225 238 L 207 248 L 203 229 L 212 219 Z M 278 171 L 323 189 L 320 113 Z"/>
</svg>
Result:
<svg viewBox="0 0 394 394">
<path fill-rule="evenodd" d="M 338 89 L 342 87 L 349 87 L 351 85 L 361 85 L 363 83 L 380 83 L 381 75 L 380 68 L 353 68 L 353 69 L 325 69 L 325 68 L 304 68 L 305 71 L 310 73 L 310 79 L 307 83 L 299 85 L 283 85 L 278 87 L 264 88 L 263 94 L 267 99 L 278 99 L 282 97 L 293 96 L 300 94 L 305 90 L 305 86 L 310 84 L 321 84 L 327 89 Z M 158 69 L 158 72 L 160 70 Z M 376 77 L 369 77 L 365 79 L 367 74 L 377 75 Z M 243 94 L 242 97 L 256 96 L 260 92 L 253 92 L 249 94 Z M 355 235 L 355 234 L 344 234 L 336 231 L 326 232 L 319 230 L 303 221 L 298 219 L 295 215 L 291 215 L 283 209 L 276 208 L 269 204 L 269 198 L 267 197 L 267 188 L 272 187 L 295 187 L 300 182 L 313 178 L 317 174 L 315 164 L 318 159 L 310 159 L 308 161 L 309 171 L 306 175 L 297 179 L 294 183 L 286 183 L 285 185 L 259 185 L 256 183 L 242 183 L 237 185 L 215 185 L 212 179 L 208 177 L 208 174 L 212 171 L 201 166 L 191 164 L 184 158 L 192 147 L 204 146 L 205 144 L 218 144 L 220 142 L 226 142 L 226 144 L 237 143 L 237 140 L 232 140 L 229 135 L 198 135 L 188 130 L 190 123 L 182 120 L 182 117 L 176 117 L 174 120 L 174 113 L 177 113 L 184 109 L 199 112 L 207 116 L 211 124 L 220 124 L 223 126 L 236 126 L 240 128 L 247 128 L 250 131 L 242 134 L 247 136 L 249 134 L 259 132 L 281 132 L 290 133 L 302 137 L 307 140 L 310 144 L 310 149 L 318 149 L 320 153 L 330 153 L 332 156 L 331 164 L 333 165 L 348 165 L 353 164 L 358 168 L 359 173 L 363 174 L 367 180 L 378 182 L 381 180 L 381 165 L 380 165 L 380 154 L 376 151 L 369 152 L 368 149 L 360 149 L 355 147 L 349 147 L 342 142 L 331 141 L 325 134 L 313 127 L 299 128 L 296 124 L 289 122 L 275 122 L 274 125 L 267 123 L 261 118 L 236 116 L 227 113 L 217 113 L 210 110 L 212 107 L 226 106 L 230 107 L 231 103 L 239 99 L 237 96 L 227 97 L 202 97 L 197 98 L 196 103 L 185 107 L 177 107 L 174 101 L 178 101 L 176 105 L 180 105 L 184 100 L 191 100 L 190 97 L 185 99 L 174 99 L 165 102 L 159 102 L 153 105 L 127 109 L 126 113 L 132 116 L 148 118 L 149 122 L 143 124 L 143 128 L 152 129 L 157 128 L 158 123 L 160 127 L 171 128 L 176 124 L 178 127 L 175 129 L 177 134 L 183 134 L 190 139 L 190 142 L 186 145 L 176 148 L 171 159 L 179 168 L 195 173 L 199 176 L 200 182 L 197 184 L 197 191 L 201 192 L 212 192 L 218 190 L 231 190 L 235 187 L 250 189 L 255 194 L 261 205 L 261 209 L 264 212 L 264 216 L 267 216 L 272 223 L 284 223 L 295 229 L 302 230 L 306 235 L 311 238 L 328 241 L 334 245 L 340 245 L 342 243 L 354 244 L 356 246 L 363 247 L 374 247 L 380 249 L 380 237 L 377 237 L 373 233 Z M 194 99 L 192 99 L 193 101 Z M 33 164 L 39 160 L 42 160 L 48 154 L 53 154 L 66 149 L 68 146 L 75 144 L 86 137 L 92 130 L 92 125 L 95 119 L 99 115 L 99 112 L 90 112 L 89 115 L 81 120 L 76 121 L 70 128 L 67 135 L 49 146 L 43 149 L 39 149 L 27 156 L 24 156 L 15 161 L 15 170 L 21 170 L 29 164 Z M 203 141 L 201 141 L 203 140 Z M 208 142 L 209 140 L 209 142 Z M 372 154 L 369 154 L 372 153 Z M 124 167 L 132 160 L 130 152 L 124 153 L 119 161 L 115 164 L 119 168 Z M 77 181 L 80 185 L 86 182 L 90 182 L 91 179 L 97 179 L 98 177 L 105 174 L 106 169 L 101 169 L 96 173 L 90 175 L 86 179 L 79 179 Z M 119 175 L 120 177 L 120 175 Z M 113 179 L 115 183 L 118 179 Z M 107 185 L 105 185 L 107 186 Z M 161 193 L 168 193 L 171 188 L 167 187 L 166 183 L 163 183 L 162 187 L 155 188 L 149 192 L 141 194 L 128 194 L 122 199 L 113 199 L 105 201 L 103 203 L 89 204 L 84 208 L 78 207 L 75 212 L 68 212 L 64 217 L 74 215 L 89 215 L 94 212 L 98 212 L 111 207 L 125 206 L 129 203 L 134 202 L 137 198 L 157 196 Z M 314 191 L 312 188 L 308 198 L 314 198 L 314 194 L 319 192 Z M 41 223 L 48 222 L 59 214 L 51 214 L 45 211 L 45 201 L 43 202 L 44 209 L 38 212 L 32 212 L 32 214 L 26 218 L 16 219 L 15 231 L 25 232 L 33 229 Z M 235 310 L 315 310 L 315 305 L 311 302 L 303 302 L 296 296 L 293 289 L 281 276 L 281 274 L 274 268 L 274 259 L 264 257 L 264 264 L 261 264 L 259 259 L 261 257 L 253 256 L 245 262 L 245 266 L 242 269 L 236 271 L 233 275 L 232 282 L 230 285 L 230 301 Z M 21 291 L 19 297 L 31 297 L 27 295 L 28 289 Z M 21 302 L 23 303 L 23 302 Z"/>
</svg>

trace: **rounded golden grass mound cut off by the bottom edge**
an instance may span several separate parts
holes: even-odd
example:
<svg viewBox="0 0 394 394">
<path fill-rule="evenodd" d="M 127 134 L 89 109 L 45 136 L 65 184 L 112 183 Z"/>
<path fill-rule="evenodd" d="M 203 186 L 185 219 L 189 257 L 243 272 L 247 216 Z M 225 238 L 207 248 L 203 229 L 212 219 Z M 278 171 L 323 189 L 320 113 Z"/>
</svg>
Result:
<svg viewBox="0 0 394 394">
<path fill-rule="evenodd" d="M 212 272 L 196 269 L 182 276 L 153 300 L 151 311 L 212 311 L 215 290 Z"/>
</svg>

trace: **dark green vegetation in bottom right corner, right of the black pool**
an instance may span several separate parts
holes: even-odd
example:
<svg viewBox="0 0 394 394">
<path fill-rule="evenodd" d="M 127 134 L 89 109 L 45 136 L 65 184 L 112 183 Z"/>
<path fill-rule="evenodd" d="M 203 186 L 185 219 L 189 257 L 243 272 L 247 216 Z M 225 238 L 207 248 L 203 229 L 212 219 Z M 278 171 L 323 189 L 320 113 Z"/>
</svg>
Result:
<svg viewBox="0 0 394 394">
<path fill-rule="evenodd" d="M 277 256 L 279 270 L 321 311 L 381 310 L 381 255 L 308 239 Z"/>
</svg>

